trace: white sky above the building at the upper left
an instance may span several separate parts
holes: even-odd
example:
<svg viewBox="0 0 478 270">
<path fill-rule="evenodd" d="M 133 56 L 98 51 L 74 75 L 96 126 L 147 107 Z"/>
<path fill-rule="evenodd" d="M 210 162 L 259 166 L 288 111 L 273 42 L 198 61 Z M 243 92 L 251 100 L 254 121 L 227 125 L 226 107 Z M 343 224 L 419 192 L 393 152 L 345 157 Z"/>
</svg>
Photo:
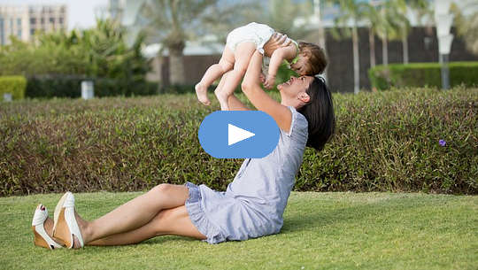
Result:
<svg viewBox="0 0 478 270">
<path fill-rule="evenodd" d="M 97 7 L 106 6 L 108 0 L 0 0 L 0 4 L 67 4 L 68 29 L 71 30 L 95 26 L 95 11 Z"/>
</svg>

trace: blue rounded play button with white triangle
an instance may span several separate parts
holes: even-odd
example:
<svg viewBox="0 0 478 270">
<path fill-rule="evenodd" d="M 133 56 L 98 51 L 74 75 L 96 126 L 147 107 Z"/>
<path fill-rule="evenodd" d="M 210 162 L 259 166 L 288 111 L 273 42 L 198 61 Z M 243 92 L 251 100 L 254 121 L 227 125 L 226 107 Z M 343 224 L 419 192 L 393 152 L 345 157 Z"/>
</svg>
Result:
<svg viewBox="0 0 478 270">
<path fill-rule="evenodd" d="M 279 142 L 279 127 L 266 112 L 217 111 L 204 118 L 198 137 L 214 158 L 264 158 Z"/>
</svg>

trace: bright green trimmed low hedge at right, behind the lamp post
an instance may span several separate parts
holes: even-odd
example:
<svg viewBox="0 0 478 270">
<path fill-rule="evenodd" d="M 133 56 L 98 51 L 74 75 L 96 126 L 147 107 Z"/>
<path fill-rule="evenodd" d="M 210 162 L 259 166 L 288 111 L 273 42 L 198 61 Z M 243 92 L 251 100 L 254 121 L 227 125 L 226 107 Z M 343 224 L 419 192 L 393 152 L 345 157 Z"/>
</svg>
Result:
<svg viewBox="0 0 478 270">
<path fill-rule="evenodd" d="M 478 86 L 478 62 L 451 62 L 451 87 L 464 85 Z M 368 70 L 372 87 L 384 90 L 391 87 L 436 87 L 442 88 L 441 66 L 439 63 L 412 63 L 375 66 Z"/>
</svg>

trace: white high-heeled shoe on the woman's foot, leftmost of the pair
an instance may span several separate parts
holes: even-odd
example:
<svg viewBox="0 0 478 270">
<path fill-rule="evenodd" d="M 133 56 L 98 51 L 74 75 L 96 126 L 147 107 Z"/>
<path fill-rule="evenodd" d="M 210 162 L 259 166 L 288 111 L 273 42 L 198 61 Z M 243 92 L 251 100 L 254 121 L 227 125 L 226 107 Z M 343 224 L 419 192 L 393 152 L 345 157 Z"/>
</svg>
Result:
<svg viewBox="0 0 478 270">
<path fill-rule="evenodd" d="M 50 250 L 62 248 L 60 244 L 51 239 L 50 235 L 47 234 L 43 223 L 48 219 L 48 211 L 43 204 L 38 204 L 35 209 L 34 218 L 32 220 L 32 231 L 35 235 L 35 245 Z"/>
</svg>

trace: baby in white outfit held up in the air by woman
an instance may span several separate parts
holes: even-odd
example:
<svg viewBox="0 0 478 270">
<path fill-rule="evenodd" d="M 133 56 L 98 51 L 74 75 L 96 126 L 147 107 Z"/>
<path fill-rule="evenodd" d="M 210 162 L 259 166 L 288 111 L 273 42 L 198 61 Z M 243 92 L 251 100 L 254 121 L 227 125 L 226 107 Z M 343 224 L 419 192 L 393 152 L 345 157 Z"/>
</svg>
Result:
<svg viewBox="0 0 478 270">
<path fill-rule="evenodd" d="M 234 93 L 235 88 L 239 85 L 256 50 L 266 57 L 270 57 L 268 72 L 264 80 L 266 89 L 274 87 L 277 70 L 284 60 L 289 64 L 290 69 L 299 75 L 315 75 L 324 71 L 327 60 L 324 51 L 319 46 L 309 42 L 297 43 L 287 38 L 284 42 L 287 46 L 277 49 L 273 46 L 274 50 L 267 50 L 268 46 L 266 45 L 268 42 L 272 42 L 274 34 L 278 33 L 273 28 L 255 22 L 235 28 L 230 32 L 227 35 L 226 47 L 222 52 L 220 62 L 210 66 L 204 73 L 203 79 L 195 87 L 197 99 L 205 105 L 211 104 L 207 98 L 207 88 L 224 73 L 231 71 L 227 73 L 223 87 L 214 91 L 220 102 L 220 109 L 227 111 L 227 98 Z"/>
</svg>

